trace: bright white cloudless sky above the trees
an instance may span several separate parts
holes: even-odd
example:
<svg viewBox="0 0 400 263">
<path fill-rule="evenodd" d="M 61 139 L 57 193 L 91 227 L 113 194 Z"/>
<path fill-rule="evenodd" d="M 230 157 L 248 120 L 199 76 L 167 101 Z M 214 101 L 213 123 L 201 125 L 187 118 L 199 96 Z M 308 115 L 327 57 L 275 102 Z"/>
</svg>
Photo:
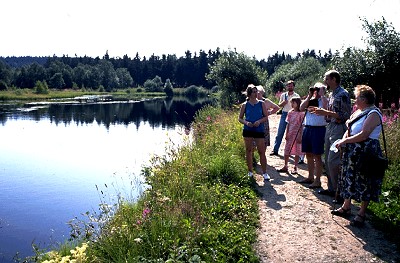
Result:
<svg viewBox="0 0 400 263">
<path fill-rule="evenodd" d="M 141 58 L 236 50 L 258 60 L 365 48 L 361 18 L 400 32 L 400 0 L 2 0 L 0 56 Z"/>
</svg>

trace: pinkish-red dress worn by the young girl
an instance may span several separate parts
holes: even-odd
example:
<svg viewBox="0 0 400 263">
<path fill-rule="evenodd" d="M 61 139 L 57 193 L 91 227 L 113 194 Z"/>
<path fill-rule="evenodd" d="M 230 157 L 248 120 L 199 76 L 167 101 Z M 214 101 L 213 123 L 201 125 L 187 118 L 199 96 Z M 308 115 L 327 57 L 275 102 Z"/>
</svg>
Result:
<svg viewBox="0 0 400 263">
<path fill-rule="evenodd" d="M 285 155 L 302 155 L 301 142 L 296 142 L 296 138 L 301 138 L 303 131 L 304 112 L 291 110 L 288 112 L 286 122 L 288 130 L 286 134 Z M 292 147 L 293 145 L 293 147 Z"/>
</svg>

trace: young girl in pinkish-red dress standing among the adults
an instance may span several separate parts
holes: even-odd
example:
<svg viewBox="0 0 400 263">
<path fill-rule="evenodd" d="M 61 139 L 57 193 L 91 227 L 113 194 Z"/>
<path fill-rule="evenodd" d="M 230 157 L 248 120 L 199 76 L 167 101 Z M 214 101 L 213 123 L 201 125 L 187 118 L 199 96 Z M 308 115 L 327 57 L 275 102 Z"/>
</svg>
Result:
<svg viewBox="0 0 400 263">
<path fill-rule="evenodd" d="M 285 145 L 285 166 L 279 169 L 278 172 L 288 172 L 289 156 L 294 155 L 294 168 L 290 171 L 291 174 L 297 174 L 297 164 L 299 162 L 299 156 L 301 152 L 301 137 L 303 134 L 303 120 L 304 112 L 300 111 L 300 98 L 292 98 L 290 100 L 292 109 L 288 112 L 286 117 L 286 145 Z"/>
</svg>

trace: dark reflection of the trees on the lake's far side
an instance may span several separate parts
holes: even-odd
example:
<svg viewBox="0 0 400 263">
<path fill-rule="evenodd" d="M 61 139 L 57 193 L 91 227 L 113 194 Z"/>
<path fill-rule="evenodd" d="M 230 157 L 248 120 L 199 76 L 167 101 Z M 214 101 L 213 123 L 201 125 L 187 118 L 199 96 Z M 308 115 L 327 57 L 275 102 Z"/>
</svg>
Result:
<svg viewBox="0 0 400 263">
<path fill-rule="evenodd" d="M 152 127 L 171 128 L 175 125 L 188 127 L 195 112 L 210 100 L 189 101 L 186 99 L 152 99 L 143 101 L 124 101 L 82 104 L 28 104 L 16 108 L 15 105 L 0 106 L 0 121 L 4 124 L 10 112 L 13 118 L 31 118 L 39 121 L 49 118 L 55 124 L 91 124 L 93 122 L 109 128 L 110 125 L 148 122 Z M 110 106 L 110 104 L 112 104 Z"/>
</svg>

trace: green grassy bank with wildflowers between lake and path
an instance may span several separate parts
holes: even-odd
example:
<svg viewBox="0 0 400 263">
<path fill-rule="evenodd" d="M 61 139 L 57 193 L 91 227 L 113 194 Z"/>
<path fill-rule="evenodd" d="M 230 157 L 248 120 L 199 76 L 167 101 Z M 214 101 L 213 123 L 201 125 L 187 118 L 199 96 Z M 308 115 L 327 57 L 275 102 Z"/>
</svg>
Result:
<svg viewBox="0 0 400 263">
<path fill-rule="evenodd" d="M 246 175 L 237 113 L 208 107 L 193 128 L 191 145 L 166 149 L 145 169 L 151 190 L 139 201 L 120 200 L 116 213 L 104 205 L 100 220 L 76 232 L 83 245 L 72 254 L 38 253 L 37 261 L 258 262 L 258 197 Z"/>
</svg>

